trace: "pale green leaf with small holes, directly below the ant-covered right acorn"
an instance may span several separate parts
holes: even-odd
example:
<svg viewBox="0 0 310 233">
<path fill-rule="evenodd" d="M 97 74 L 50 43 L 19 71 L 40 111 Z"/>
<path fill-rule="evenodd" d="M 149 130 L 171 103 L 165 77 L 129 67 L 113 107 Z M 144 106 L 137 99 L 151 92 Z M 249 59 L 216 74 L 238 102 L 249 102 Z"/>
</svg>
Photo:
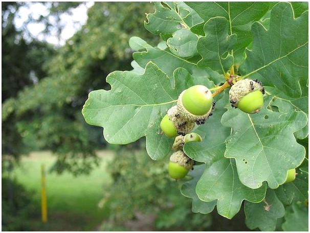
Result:
<svg viewBox="0 0 310 233">
<path fill-rule="evenodd" d="M 276 189 L 284 183 L 287 170 L 298 167 L 305 156 L 293 133 L 306 125 L 306 115 L 290 109 L 272 111 L 267 108 L 271 101 L 272 97 L 265 98 L 259 114 L 230 108 L 222 117 L 222 124 L 233 130 L 225 157 L 236 159 L 240 181 L 252 189 L 265 180 Z"/>
</svg>

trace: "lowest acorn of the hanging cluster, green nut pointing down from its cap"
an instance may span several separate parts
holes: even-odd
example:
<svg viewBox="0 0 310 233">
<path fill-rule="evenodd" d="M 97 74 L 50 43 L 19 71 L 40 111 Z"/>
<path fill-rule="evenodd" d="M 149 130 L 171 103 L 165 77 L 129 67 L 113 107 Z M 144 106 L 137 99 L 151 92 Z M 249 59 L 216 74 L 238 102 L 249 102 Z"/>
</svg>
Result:
<svg viewBox="0 0 310 233">
<path fill-rule="evenodd" d="M 172 179 L 184 178 L 194 166 L 194 160 L 189 158 L 182 150 L 174 152 L 170 156 L 168 173 Z"/>
</svg>

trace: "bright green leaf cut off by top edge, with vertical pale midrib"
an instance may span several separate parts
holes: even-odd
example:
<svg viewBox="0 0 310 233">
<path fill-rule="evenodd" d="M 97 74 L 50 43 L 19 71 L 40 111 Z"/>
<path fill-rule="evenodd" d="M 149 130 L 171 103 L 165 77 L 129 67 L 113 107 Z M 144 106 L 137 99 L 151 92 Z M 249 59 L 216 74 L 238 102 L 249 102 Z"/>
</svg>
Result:
<svg viewBox="0 0 310 233">
<path fill-rule="evenodd" d="M 195 10 L 205 22 L 218 16 L 225 17 L 229 21 L 227 33 L 237 36 L 233 48 L 236 64 L 241 62 L 242 54 L 252 42 L 253 22 L 258 21 L 269 10 L 270 5 L 268 2 L 186 2 L 186 4 Z M 201 25 L 197 25 L 192 28 L 192 31 L 203 34 L 200 28 L 202 28 Z"/>
</svg>

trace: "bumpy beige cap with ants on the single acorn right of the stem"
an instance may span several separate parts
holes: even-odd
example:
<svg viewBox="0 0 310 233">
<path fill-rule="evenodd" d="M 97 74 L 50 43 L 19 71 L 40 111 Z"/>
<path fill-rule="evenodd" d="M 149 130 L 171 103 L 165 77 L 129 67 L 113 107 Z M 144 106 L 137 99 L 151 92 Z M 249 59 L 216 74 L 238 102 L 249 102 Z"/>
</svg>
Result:
<svg viewBox="0 0 310 233">
<path fill-rule="evenodd" d="M 250 92 L 255 90 L 262 91 L 263 87 L 251 79 L 241 79 L 231 86 L 229 90 L 229 99 L 234 107 L 238 106 L 238 102 L 242 97 L 248 95 Z"/>
</svg>

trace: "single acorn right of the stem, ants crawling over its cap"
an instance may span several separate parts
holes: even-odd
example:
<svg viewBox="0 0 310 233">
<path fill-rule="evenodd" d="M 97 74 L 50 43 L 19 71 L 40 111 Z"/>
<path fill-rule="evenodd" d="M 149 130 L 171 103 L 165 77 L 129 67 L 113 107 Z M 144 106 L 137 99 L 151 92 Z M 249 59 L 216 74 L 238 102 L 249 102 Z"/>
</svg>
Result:
<svg viewBox="0 0 310 233">
<path fill-rule="evenodd" d="M 258 113 L 263 106 L 264 88 L 260 81 L 241 79 L 229 90 L 232 107 L 246 113 Z"/>
</svg>

